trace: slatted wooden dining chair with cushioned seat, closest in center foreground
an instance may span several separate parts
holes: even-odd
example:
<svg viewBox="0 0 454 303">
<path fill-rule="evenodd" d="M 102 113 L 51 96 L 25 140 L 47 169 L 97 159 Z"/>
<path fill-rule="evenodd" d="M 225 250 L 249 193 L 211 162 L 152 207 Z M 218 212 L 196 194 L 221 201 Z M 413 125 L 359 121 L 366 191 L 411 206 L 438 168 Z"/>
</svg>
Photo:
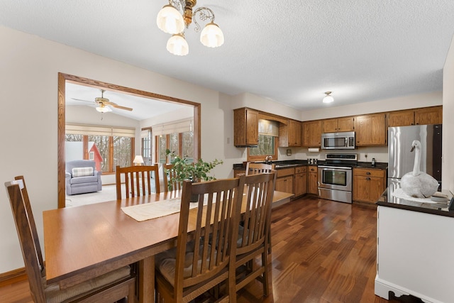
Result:
<svg viewBox="0 0 454 303">
<path fill-rule="evenodd" d="M 216 302 L 236 302 L 234 260 L 244 185 L 239 178 L 182 183 L 177 247 L 155 258 L 156 302 L 189 302 L 225 282 Z M 190 209 L 191 196 L 199 196 Z M 209 226 L 209 227 L 208 227 Z"/>
</svg>

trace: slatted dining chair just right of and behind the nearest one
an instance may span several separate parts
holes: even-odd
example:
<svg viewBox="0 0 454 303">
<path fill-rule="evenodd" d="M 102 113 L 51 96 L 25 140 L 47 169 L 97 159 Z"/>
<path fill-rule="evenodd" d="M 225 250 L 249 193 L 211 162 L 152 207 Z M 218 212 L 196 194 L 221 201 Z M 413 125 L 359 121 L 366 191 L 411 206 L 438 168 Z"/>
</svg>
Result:
<svg viewBox="0 0 454 303">
<path fill-rule="evenodd" d="M 277 172 L 244 177 L 245 201 L 242 224 L 238 228 L 236 247 L 236 291 L 255 279 L 263 285 L 263 294 L 270 291 L 271 278 L 268 268 L 268 255 L 271 246 L 271 204 L 275 192 Z M 245 207 L 245 209 L 244 209 Z M 236 217 L 241 216 L 236 210 Z M 256 257 L 261 257 L 260 265 L 255 264 Z"/>
</svg>

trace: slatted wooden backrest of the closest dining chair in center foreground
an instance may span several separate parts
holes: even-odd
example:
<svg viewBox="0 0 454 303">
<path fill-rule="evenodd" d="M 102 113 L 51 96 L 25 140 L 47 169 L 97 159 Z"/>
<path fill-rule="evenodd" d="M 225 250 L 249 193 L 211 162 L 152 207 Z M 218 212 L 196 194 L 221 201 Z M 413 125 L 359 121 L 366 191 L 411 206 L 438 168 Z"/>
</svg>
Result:
<svg viewBox="0 0 454 303">
<path fill-rule="evenodd" d="M 233 214 L 240 208 L 243 187 L 238 178 L 201 183 L 183 182 L 175 288 L 210 280 L 221 270 L 228 270 L 232 243 L 236 243 L 236 235 L 232 235 L 235 230 L 233 227 L 239 224 L 239 219 Z M 194 194 L 199 197 L 197 209 L 189 211 Z M 182 279 L 178 275 L 182 275 L 183 271 L 188 227 L 194 228 L 192 275 Z"/>
</svg>

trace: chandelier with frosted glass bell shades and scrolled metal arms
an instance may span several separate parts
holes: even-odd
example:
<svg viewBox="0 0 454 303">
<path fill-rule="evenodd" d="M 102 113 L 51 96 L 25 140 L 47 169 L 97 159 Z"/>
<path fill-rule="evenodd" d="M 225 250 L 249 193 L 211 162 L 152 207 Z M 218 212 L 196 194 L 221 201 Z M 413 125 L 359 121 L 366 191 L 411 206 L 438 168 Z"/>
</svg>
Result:
<svg viewBox="0 0 454 303">
<path fill-rule="evenodd" d="M 189 28 L 194 21 L 196 26 L 194 31 L 199 32 L 201 27 L 197 23 L 196 17 L 201 21 L 210 21 L 200 33 L 201 44 L 209 48 L 217 48 L 224 43 L 221 28 L 214 23 L 213 11 L 204 6 L 192 11 L 195 5 L 196 0 L 169 0 L 169 4 L 162 7 L 157 13 L 157 27 L 172 35 L 167 41 L 167 50 L 174 55 L 184 56 L 189 53 L 189 45 L 184 39 L 184 27 Z"/>
</svg>

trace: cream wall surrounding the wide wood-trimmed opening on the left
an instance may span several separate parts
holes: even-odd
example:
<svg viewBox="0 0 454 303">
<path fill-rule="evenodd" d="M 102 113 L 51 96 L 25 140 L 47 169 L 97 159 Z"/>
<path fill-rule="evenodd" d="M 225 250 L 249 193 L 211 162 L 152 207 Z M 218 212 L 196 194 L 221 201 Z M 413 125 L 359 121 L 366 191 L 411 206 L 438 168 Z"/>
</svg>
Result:
<svg viewBox="0 0 454 303">
<path fill-rule="evenodd" d="M 25 176 L 41 245 L 41 214 L 57 208 L 58 72 L 199 102 L 201 157 L 224 161 L 213 170 L 218 178 L 232 177 L 233 163 L 246 158 L 245 148 L 233 146 L 233 109 L 250 106 L 292 119 L 305 116 L 268 99 L 251 94 L 231 97 L 2 26 L 0 41 L 0 138 L 4 142 L 0 180 L 6 182 L 16 175 Z M 435 103 L 424 106 L 438 105 Z M 341 116 L 335 113 L 333 111 L 333 116 Z M 279 154 L 285 153 L 285 149 L 279 148 Z M 294 153 L 291 158 L 303 158 L 304 149 L 299 150 L 301 155 Z M 23 267 L 16 228 L 3 187 L 0 189 L 0 238 L 0 273 Z"/>
</svg>

